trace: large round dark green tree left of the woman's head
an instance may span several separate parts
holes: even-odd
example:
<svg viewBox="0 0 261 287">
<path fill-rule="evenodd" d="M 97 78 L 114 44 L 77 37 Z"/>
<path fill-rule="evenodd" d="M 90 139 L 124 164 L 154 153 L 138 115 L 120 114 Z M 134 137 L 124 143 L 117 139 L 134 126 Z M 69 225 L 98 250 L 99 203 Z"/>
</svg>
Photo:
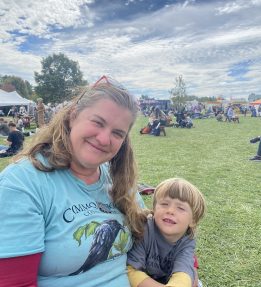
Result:
<svg viewBox="0 0 261 287">
<path fill-rule="evenodd" d="M 34 72 L 35 92 L 44 103 L 61 103 L 70 100 L 79 86 L 87 84 L 78 62 L 64 54 L 53 54 L 41 61 L 41 73 Z"/>
</svg>

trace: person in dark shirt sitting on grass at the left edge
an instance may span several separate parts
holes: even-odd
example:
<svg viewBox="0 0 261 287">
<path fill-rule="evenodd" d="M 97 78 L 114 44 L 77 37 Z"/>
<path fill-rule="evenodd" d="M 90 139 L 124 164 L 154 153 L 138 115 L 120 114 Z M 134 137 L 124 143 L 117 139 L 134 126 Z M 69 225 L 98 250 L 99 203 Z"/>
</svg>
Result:
<svg viewBox="0 0 261 287">
<path fill-rule="evenodd" d="M 0 147 L 0 158 L 15 155 L 20 149 L 23 148 L 24 135 L 16 128 L 14 122 L 8 124 L 10 133 L 6 139 L 8 146 Z"/>
</svg>

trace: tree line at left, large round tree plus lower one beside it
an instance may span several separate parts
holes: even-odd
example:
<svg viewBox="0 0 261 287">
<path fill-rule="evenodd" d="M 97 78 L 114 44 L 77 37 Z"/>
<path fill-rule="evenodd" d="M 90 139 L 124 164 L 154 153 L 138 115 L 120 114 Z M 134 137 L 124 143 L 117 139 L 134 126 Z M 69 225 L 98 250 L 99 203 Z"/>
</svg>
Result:
<svg viewBox="0 0 261 287">
<path fill-rule="evenodd" d="M 80 86 L 88 84 L 83 78 L 78 62 L 63 53 L 53 54 L 41 61 L 41 72 L 34 72 L 36 86 L 17 76 L 0 76 L 0 89 L 17 91 L 30 100 L 42 98 L 44 103 L 61 103 L 70 100 Z"/>
</svg>

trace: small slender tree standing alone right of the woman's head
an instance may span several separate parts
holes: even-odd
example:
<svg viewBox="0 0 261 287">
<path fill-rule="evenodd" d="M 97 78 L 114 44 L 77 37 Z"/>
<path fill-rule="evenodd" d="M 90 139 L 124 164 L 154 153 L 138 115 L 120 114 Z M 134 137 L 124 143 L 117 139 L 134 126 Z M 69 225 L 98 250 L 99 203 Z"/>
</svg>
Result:
<svg viewBox="0 0 261 287">
<path fill-rule="evenodd" d="M 186 84 L 182 75 L 176 77 L 175 87 L 172 88 L 169 93 L 173 106 L 181 110 L 187 100 Z"/>
</svg>

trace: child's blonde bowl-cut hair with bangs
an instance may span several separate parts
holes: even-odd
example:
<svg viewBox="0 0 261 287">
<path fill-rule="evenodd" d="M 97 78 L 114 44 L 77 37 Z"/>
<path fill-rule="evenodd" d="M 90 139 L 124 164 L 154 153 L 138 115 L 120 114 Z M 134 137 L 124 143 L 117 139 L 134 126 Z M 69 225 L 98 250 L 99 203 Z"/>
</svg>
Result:
<svg viewBox="0 0 261 287">
<path fill-rule="evenodd" d="M 193 184 L 183 178 L 170 178 L 162 181 L 154 191 L 153 210 L 158 199 L 170 197 L 187 202 L 192 210 L 193 227 L 189 227 L 187 234 L 193 238 L 196 233 L 196 226 L 204 216 L 206 203 L 202 193 Z"/>
</svg>

